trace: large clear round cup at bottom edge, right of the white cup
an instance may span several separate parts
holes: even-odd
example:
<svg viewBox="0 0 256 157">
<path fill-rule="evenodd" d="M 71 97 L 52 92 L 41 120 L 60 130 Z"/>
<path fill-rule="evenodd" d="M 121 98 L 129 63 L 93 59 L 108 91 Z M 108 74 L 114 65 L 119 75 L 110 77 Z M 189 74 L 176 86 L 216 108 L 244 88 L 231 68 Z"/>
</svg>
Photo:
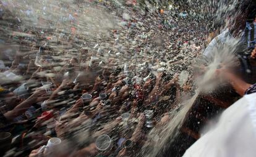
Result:
<svg viewBox="0 0 256 157">
<path fill-rule="evenodd" d="M 106 134 L 100 135 L 95 141 L 96 148 L 100 151 L 107 150 L 110 144 L 111 144 L 111 139 L 109 135 L 106 135 Z"/>
</svg>

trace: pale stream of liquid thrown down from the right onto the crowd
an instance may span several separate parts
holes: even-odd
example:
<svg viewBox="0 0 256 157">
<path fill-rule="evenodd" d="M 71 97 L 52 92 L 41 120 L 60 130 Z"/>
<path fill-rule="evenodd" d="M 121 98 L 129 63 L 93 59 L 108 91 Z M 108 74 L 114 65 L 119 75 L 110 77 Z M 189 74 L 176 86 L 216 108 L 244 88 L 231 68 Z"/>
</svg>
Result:
<svg viewBox="0 0 256 157">
<path fill-rule="evenodd" d="M 218 84 L 220 84 L 220 79 L 216 79 L 215 71 L 221 65 L 233 66 L 236 63 L 234 53 L 237 49 L 238 42 L 239 41 L 235 38 L 227 38 L 224 44 L 211 50 L 211 56 L 207 60 L 202 60 L 203 62 L 207 62 L 207 66 L 205 66 L 205 73 L 197 80 L 198 87 L 194 96 L 182 102 L 176 110 L 171 111 L 170 115 L 172 115 L 173 118 L 169 123 L 160 128 L 151 130 L 148 135 L 148 141 L 143 146 L 139 156 L 161 156 L 161 150 L 168 147 L 168 143 L 171 143 L 172 139 L 178 134 L 184 119 L 186 119 L 187 113 L 194 105 L 198 95 L 200 93 L 210 92 L 216 89 Z"/>
</svg>

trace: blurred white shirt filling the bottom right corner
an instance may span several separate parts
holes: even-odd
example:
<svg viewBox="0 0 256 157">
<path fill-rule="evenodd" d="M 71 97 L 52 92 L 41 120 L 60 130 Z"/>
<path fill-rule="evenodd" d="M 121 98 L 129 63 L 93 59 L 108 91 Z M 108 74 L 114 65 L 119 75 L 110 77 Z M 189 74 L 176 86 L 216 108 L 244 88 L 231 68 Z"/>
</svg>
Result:
<svg viewBox="0 0 256 157">
<path fill-rule="evenodd" d="M 245 95 L 220 116 L 183 157 L 255 157 L 256 93 Z"/>
</svg>

